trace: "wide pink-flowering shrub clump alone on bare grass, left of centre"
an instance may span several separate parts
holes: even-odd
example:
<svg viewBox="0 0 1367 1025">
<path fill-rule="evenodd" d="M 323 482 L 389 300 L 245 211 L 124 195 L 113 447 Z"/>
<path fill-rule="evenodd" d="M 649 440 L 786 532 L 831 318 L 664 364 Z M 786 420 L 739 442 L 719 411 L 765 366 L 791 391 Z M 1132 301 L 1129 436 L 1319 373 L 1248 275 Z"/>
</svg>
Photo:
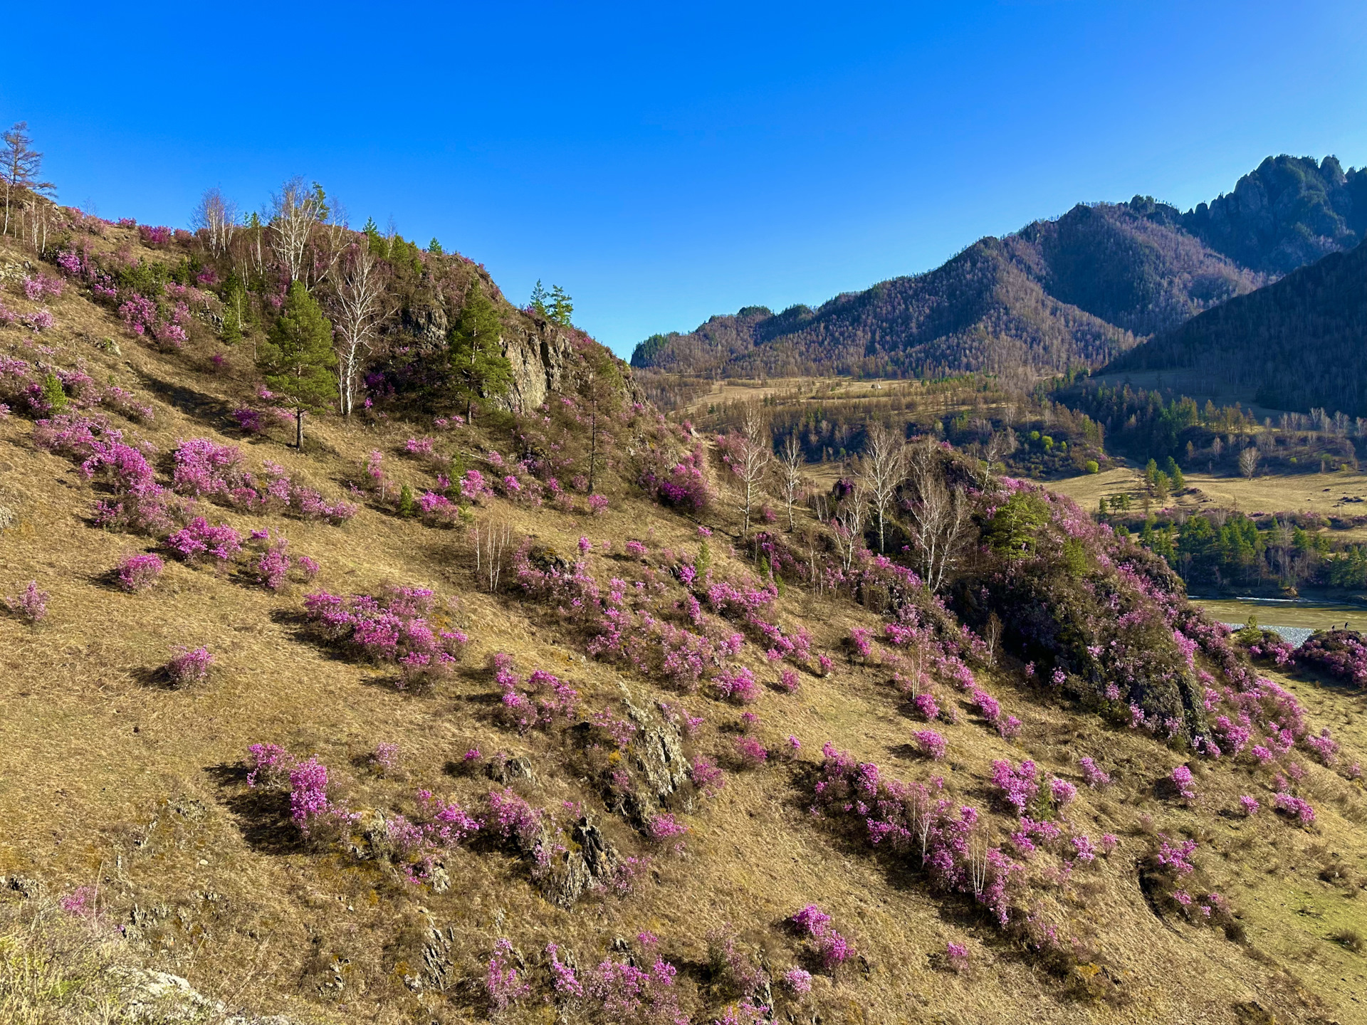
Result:
<svg viewBox="0 0 1367 1025">
<path fill-rule="evenodd" d="M 306 594 L 305 614 L 319 636 L 399 670 L 399 689 L 450 675 L 469 638 L 433 623 L 436 600 L 425 588 L 391 586 L 383 596 Z"/>
</svg>

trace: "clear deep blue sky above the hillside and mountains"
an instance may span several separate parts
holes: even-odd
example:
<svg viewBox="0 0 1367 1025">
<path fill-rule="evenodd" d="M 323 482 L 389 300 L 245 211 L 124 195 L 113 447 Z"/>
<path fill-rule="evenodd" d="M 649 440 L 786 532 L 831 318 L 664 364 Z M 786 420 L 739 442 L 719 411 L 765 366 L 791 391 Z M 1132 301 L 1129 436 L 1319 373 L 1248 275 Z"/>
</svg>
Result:
<svg viewBox="0 0 1367 1025">
<path fill-rule="evenodd" d="M 62 201 L 183 226 L 305 175 L 518 302 L 565 286 L 623 355 L 1077 201 L 1367 163 L 1362 0 L 42 3 L 7 38 L 0 119 Z"/>
</svg>

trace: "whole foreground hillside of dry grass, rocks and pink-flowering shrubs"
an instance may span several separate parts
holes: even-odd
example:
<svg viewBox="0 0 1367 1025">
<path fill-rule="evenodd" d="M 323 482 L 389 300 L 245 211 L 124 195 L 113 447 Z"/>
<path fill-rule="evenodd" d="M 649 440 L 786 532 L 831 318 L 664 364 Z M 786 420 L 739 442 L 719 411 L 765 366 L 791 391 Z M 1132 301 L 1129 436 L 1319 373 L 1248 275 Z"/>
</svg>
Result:
<svg viewBox="0 0 1367 1025">
<path fill-rule="evenodd" d="M 231 257 L 49 213 L 4 239 L 0 1018 L 138 1020 L 152 969 L 295 1022 L 1353 1020 L 1360 690 L 1259 679 L 1070 502 L 923 444 L 897 559 L 861 492 L 742 536 L 746 440 L 577 332 L 498 306 L 529 369 L 452 414 L 422 325 L 496 291 L 392 242 L 406 340 L 295 448 L 279 265 L 230 343 Z"/>
</svg>

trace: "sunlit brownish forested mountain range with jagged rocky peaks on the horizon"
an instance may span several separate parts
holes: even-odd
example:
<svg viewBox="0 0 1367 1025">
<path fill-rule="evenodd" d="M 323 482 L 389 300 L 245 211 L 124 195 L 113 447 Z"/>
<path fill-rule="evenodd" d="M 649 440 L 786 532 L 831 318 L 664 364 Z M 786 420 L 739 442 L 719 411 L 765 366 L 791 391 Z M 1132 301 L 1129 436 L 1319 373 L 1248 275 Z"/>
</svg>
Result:
<svg viewBox="0 0 1367 1025">
<path fill-rule="evenodd" d="M 1233 193 L 1187 213 L 1141 195 L 1080 204 L 817 309 L 748 306 L 655 335 L 632 365 L 703 377 L 1095 368 L 1356 245 L 1364 227 L 1367 174 L 1344 172 L 1334 157 L 1270 157 Z"/>
</svg>

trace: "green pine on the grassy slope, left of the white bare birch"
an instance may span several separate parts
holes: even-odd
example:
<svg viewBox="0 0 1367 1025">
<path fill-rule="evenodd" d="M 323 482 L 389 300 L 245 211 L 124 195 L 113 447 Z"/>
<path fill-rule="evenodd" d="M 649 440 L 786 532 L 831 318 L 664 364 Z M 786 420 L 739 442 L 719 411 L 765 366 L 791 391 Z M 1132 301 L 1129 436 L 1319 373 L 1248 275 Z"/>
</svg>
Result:
<svg viewBox="0 0 1367 1025">
<path fill-rule="evenodd" d="M 294 444 L 303 447 L 303 414 L 327 409 L 335 394 L 332 324 L 302 282 L 290 286 L 280 318 L 261 343 L 257 365 L 267 387 L 294 410 Z"/>
</svg>

